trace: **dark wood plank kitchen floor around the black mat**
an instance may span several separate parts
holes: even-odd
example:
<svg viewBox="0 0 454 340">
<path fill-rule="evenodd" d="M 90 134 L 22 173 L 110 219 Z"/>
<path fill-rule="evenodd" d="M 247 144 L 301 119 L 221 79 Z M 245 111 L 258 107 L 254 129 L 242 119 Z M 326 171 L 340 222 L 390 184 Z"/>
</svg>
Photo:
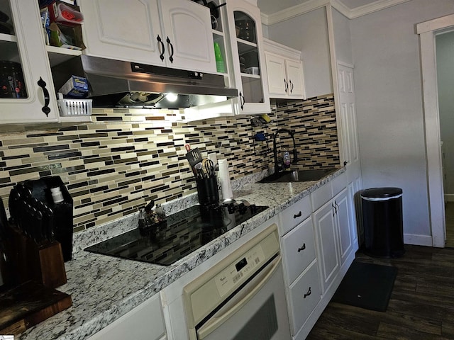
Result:
<svg viewBox="0 0 454 340">
<path fill-rule="evenodd" d="M 397 267 L 386 312 L 330 302 L 308 340 L 454 339 L 454 249 L 405 246 L 399 259 L 358 261 Z"/>
</svg>

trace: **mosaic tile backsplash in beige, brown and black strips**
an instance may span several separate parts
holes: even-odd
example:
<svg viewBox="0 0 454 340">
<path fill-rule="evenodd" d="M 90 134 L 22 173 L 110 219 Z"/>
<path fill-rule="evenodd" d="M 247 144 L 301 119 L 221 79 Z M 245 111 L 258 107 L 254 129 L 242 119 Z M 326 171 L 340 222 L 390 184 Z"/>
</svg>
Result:
<svg viewBox="0 0 454 340">
<path fill-rule="evenodd" d="M 74 200 L 74 231 L 130 215 L 150 199 L 164 203 L 196 192 L 184 145 L 228 159 L 231 179 L 273 164 L 272 133 L 294 130 L 299 167 L 339 165 L 333 95 L 273 103 L 267 125 L 250 118 L 178 123 L 179 111 L 94 109 L 93 122 L 1 133 L 0 196 L 28 179 L 60 176 Z M 253 136 L 262 132 L 265 142 Z M 279 151 L 291 149 L 282 134 Z"/>
</svg>

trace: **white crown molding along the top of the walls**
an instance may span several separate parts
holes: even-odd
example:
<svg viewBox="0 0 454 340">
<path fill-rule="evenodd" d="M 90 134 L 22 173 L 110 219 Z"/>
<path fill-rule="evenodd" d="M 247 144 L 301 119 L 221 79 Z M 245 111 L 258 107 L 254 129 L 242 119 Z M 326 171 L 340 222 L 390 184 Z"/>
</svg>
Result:
<svg viewBox="0 0 454 340">
<path fill-rule="evenodd" d="M 314 11 L 314 9 L 321 8 L 328 4 L 331 4 L 331 6 L 333 6 L 333 8 L 336 8 L 337 11 L 341 12 L 343 16 L 346 16 L 349 19 L 354 19 L 370 13 L 374 13 L 376 11 L 381 11 L 384 8 L 403 4 L 407 1 L 410 0 L 378 0 L 369 5 L 350 9 L 339 0 L 309 0 L 304 2 L 303 4 L 285 8 L 282 11 L 270 14 L 268 16 L 262 13 L 262 24 L 266 26 L 274 25 L 275 23 L 280 23 L 290 18 L 301 16 L 301 14 Z"/>
</svg>

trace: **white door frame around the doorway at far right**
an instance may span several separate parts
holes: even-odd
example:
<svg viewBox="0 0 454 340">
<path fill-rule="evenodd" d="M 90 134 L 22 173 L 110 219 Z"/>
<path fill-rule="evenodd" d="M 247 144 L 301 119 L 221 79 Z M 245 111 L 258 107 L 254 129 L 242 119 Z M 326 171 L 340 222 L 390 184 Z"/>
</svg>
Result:
<svg viewBox="0 0 454 340">
<path fill-rule="evenodd" d="M 435 37 L 437 34 L 448 30 L 454 30 L 454 14 L 416 25 L 421 53 L 426 169 L 432 245 L 441 248 L 445 246 L 446 229 Z"/>
</svg>

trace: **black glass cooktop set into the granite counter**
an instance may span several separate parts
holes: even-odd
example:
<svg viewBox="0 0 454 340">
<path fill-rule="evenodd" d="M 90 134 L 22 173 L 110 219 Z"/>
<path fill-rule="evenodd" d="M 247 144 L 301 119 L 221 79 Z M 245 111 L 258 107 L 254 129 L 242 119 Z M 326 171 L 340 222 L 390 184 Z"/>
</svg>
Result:
<svg viewBox="0 0 454 340">
<path fill-rule="evenodd" d="M 97 254 L 169 266 L 268 207 L 195 205 L 147 230 L 133 229 L 84 249 Z"/>
</svg>

